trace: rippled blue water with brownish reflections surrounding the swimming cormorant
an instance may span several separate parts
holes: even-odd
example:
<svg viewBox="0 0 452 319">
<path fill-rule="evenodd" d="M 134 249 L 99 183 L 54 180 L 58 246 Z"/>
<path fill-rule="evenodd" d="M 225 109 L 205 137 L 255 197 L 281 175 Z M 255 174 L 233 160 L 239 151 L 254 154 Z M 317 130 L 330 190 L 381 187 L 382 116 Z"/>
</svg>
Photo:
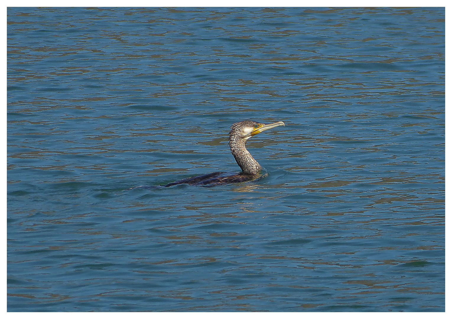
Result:
<svg viewBox="0 0 452 319">
<path fill-rule="evenodd" d="M 445 310 L 444 8 L 7 13 L 9 311 Z"/>
</svg>

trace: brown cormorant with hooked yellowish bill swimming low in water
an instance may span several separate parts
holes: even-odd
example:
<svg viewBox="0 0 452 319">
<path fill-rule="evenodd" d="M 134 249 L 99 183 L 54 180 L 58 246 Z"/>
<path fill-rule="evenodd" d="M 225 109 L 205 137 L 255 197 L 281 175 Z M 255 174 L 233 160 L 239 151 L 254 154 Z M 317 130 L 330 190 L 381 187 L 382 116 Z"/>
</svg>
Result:
<svg viewBox="0 0 452 319">
<path fill-rule="evenodd" d="M 270 128 L 278 127 L 280 125 L 284 125 L 284 122 L 280 121 L 271 124 L 262 124 L 246 120 L 232 124 L 231 131 L 229 132 L 229 147 L 231 148 L 231 153 L 234 156 L 235 161 L 242 169 L 240 173 L 215 172 L 185 178 L 163 186 L 169 187 L 178 184 L 215 186 L 230 183 L 248 182 L 250 180 L 255 180 L 259 177 L 262 177 L 261 175 L 259 175 L 262 167 L 256 160 L 254 160 L 253 156 L 246 149 L 245 143 L 250 137 L 259 134 L 260 132 L 267 131 Z"/>
</svg>

